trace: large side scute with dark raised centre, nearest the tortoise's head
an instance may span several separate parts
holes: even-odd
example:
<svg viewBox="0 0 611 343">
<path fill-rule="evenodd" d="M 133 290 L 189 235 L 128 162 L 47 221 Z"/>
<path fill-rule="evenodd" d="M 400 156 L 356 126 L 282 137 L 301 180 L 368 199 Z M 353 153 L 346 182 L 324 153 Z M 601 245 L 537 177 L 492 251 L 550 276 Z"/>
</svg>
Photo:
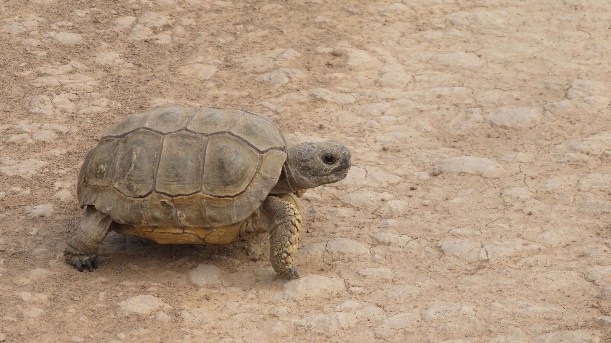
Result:
<svg viewBox="0 0 611 343">
<path fill-rule="evenodd" d="M 202 192 L 233 197 L 243 192 L 257 173 L 259 154 L 229 134 L 213 135 L 203 162 Z"/>
</svg>

